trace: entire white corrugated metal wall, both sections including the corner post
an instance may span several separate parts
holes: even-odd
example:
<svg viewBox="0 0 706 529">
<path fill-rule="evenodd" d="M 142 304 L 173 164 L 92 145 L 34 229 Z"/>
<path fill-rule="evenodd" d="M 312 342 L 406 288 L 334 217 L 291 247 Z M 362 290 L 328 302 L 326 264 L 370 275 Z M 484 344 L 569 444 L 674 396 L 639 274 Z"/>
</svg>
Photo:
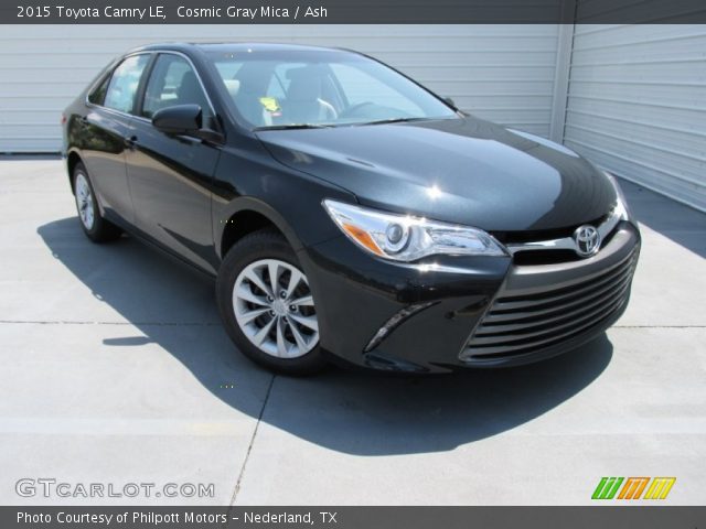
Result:
<svg viewBox="0 0 706 529">
<path fill-rule="evenodd" d="M 706 209 L 706 25 L 0 25 L 0 152 L 58 151 L 62 109 L 111 57 L 203 40 L 359 50 Z"/>
</svg>

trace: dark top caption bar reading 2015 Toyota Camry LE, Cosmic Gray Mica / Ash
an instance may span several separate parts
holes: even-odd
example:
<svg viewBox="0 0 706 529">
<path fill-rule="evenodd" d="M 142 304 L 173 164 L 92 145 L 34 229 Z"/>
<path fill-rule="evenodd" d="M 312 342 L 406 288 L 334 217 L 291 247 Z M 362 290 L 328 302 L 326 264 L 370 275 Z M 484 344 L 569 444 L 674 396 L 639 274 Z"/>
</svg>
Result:
<svg viewBox="0 0 706 529">
<path fill-rule="evenodd" d="M 17 0 L 2 24 L 706 23 L 704 0 Z"/>
</svg>

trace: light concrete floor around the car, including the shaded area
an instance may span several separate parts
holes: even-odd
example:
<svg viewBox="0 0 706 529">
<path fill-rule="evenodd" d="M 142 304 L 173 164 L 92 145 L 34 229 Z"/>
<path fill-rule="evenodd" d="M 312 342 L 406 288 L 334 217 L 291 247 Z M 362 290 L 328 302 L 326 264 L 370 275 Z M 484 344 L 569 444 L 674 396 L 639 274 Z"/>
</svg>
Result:
<svg viewBox="0 0 706 529">
<path fill-rule="evenodd" d="M 706 504 L 706 215 L 625 184 L 644 247 L 607 335 L 523 368 L 272 377 L 213 284 L 130 238 L 92 245 L 60 161 L 0 163 L 0 504 L 15 482 L 213 483 L 96 504 L 589 504 L 676 476 Z"/>
</svg>

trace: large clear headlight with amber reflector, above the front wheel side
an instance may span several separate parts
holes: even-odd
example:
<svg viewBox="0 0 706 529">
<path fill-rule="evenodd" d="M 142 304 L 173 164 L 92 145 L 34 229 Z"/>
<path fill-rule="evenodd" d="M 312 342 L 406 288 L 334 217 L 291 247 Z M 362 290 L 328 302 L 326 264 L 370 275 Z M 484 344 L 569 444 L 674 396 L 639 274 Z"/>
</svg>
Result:
<svg viewBox="0 0 706 529">
<path fill-rule="evenodd" d="M 385 259 L 409 262 L 440 253 L 506 255 L 500 242 L 481 229 L 383 213 L 328 198 L 323 206 L 353 242 Z"/>
</svg>

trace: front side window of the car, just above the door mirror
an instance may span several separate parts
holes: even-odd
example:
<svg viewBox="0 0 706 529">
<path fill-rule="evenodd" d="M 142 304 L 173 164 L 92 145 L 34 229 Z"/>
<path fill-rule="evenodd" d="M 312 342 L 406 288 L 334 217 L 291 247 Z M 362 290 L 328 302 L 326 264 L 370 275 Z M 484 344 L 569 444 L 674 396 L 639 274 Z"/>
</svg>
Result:
<svg viewBox="0 0 706 529">
<path fill-rule="evenodd" d="M 191 104 L 201 107 L 204 126 L 210 127 L 213 111 L 189 61 L 180 55 L 160 55 L 145 90 L 142 116 L 152 118 L 161 108 Z"/>
</svg>

